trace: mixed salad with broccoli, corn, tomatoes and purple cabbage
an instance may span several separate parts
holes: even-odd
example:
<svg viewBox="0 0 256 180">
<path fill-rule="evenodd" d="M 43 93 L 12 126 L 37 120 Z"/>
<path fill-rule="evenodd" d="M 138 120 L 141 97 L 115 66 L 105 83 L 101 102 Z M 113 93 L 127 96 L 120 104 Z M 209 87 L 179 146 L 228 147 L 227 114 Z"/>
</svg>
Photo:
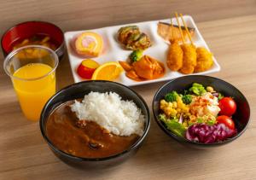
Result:
<svg viewBox="0 0 256 180">
<path fill-rule="evenodd" d="M 189 141 L 222 142 L 237 133 L 231 118 L 236 102 L 211 86 L 194 83 L 183 94 L 169 92 L 160 100 L 160 111 L 159 119 L 166 128 Z"/>
</svg>

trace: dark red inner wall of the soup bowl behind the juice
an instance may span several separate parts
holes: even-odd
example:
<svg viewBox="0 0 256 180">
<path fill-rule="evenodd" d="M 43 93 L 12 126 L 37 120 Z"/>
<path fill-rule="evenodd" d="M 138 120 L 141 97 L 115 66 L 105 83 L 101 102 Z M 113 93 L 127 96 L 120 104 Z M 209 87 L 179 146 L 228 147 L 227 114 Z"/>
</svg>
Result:
<svg viewBox="0 0 256 180">
<path fill-rule="evenodd" d="M 3 34 L 1 41 L 3 54 L 8 55 L 16 42 L 34 35 L 49 36 L 57 45 L 56 51 L 63 46 L 64 36 L 58 26 L 43 21 L 27 21 L 11 27 Z"/>
</svg>

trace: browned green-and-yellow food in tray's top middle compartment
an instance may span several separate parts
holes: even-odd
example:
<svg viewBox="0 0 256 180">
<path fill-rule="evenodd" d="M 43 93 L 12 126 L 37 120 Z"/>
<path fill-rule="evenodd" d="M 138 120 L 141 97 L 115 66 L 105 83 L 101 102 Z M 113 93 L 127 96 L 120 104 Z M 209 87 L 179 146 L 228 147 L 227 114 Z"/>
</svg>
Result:
<svg viewBox="0 0 256 180">
<path fill-rule="evenodd" d="M 138 26 L 123 26 L 118 31 L 118 39 L 125 49 L 147 49 L 151 46 L 147 34 L 140 32 Z"/>
</svg>

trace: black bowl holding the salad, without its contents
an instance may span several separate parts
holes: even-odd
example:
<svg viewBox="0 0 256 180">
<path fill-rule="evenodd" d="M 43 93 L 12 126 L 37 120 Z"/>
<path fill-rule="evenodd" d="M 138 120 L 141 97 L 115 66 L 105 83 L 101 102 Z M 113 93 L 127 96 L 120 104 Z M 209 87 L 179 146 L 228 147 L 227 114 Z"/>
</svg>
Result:
<svg viewBox="0 0 256 180">
<path fill-rule="evenodd" d="M 191 142 L 183 137 L 176 136 L 171 131 L 166 129 L 166 126 L 160 122 L 158 118 L 160 113 L 160 100 L 164 96 L 172 91 L 176 90 L 178 93 L 183 93 L 183 90 L 188 90 L 193 83 L 203 84 L 204 86 L 212 86 L 214 90 L 224 94 L 224 96 L 234 97 L 237 105 L 236 113 L 232 116 L 232 119 L 235 122 L 237 135 L 227 139 L 224 142 L 214 142 L 214 143 L 200 143 L 200 142 Z M 159 90 L 157 90 L 154 100 L 153 100 L 153 113 L 154 119 L 160 128 L 166 132 L 168 136 L 172 136 L 177 142 L 181 142 L 183 145 L 187 145 L 191 148 L 212 148 L 218 147 L 229 142 L 234 141 L 238 136 L 246 131 L 247 125 L 249 124 L 250 119 L 250 107 L 245 96 L 241 94 L 240 90 L 237 90 L 233 85 L 225 82 L 219 78 L 213 78 L 210 76 L 202 75 L 189 75 L 181 78 L 175 78 L 168 83 L 162 85 Z"/>
</svg>

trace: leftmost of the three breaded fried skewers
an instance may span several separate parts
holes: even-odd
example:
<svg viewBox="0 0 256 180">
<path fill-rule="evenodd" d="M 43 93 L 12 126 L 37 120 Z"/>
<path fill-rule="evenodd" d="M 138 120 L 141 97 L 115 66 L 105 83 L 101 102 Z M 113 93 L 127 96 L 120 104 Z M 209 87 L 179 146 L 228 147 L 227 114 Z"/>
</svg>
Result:
<svg viewBox="0 0 256 180">
<path fill-rule="evenodd" d="M 178 71 L 183 67 L 183 49 L 177 44 L 177 41 L 172 41 L 166 58 L 166 65 L 172 71 Z"/>
</svg>

